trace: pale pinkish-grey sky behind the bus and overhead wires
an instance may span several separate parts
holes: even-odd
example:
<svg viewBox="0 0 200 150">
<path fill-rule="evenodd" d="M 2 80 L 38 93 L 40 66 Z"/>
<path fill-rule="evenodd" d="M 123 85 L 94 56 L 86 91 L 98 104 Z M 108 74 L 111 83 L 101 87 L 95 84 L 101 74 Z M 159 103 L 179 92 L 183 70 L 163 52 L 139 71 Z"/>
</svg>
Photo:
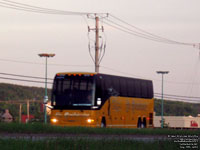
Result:
<svg viewBox="0 0 200 150">
<path fill-rule="evenodd" d="M 199 0 L 15 2 L 72 12 L 109 13 L 167 39 L 200 43 Z M 119 23 L 111 16 L 108 19 Z M 88 49 L 89 42 L 94 44 L 93 31 L 88 38 L 88 26 L 94 28 L 94 19 L 0 7 L 0 20 L 0 73 L 44 77 L 45 60 L 38 56 L 43 52 L 56 54 L 48 59 L 49 78 L 58 72 L 94 71 Z M 106 17 L 100 19 L 100 26 L 104 28 L 101 41 L 106 43 L 105 55 L 100 64 L 101 73 L 150 79 L 153 80 L 154 92 L 161 93 L 161 75 L 156 71 L 169 71 L 169 74 L 164 75 L 165 94 L 200 97 L 200 50 L 197 47 L 140 38 L 112 28 L 105 21 Z M 94 54 L 93 49 L 91 52 Z M 0 77 L 11 78 L 2 74 Z M 0 79 L 0 82 L 44 87 L 44 84 L 5 79 Z"/>
</svg>

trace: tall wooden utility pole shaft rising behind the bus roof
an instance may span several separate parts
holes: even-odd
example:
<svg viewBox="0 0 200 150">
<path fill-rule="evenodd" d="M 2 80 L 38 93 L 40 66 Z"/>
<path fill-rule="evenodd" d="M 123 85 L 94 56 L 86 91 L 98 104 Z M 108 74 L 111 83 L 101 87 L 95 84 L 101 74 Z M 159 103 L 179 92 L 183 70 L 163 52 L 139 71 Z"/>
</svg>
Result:
<svg viewBox="0 0 200 150">
<path fill-rule="evenodd" d="M 95 40 L 95 72 L 99 73 L 99 17 L 95 17 L 96 21 L 96 40 Z"/>
</svg>

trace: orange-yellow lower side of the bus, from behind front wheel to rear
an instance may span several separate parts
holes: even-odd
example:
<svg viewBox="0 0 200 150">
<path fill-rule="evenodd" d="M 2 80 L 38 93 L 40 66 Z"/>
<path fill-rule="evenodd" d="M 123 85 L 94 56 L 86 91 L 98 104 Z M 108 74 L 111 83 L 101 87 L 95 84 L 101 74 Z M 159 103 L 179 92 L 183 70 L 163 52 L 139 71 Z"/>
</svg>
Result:
<svg viewBox="0 0 200 150">
<path fill-rule="evenodd" d="M 153 99 L 111 97 L 109 101 L 108 127 L 153 127 Z"/>
</svg>

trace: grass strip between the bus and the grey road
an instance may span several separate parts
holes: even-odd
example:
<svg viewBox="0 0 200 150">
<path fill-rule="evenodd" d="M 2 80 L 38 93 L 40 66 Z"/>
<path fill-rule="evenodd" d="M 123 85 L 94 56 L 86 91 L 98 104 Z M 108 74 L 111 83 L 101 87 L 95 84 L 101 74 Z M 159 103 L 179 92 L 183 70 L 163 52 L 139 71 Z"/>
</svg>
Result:
<svg viewBox="0 0 200 150">
<path fill-rule="evenodd" d="M 60 127 L 42 123 L 35 123 L 35 124 L 0 123 L 0 133 L 200 135 L 200 130 L 86 128 L 86 127 Z"/>
</svg>

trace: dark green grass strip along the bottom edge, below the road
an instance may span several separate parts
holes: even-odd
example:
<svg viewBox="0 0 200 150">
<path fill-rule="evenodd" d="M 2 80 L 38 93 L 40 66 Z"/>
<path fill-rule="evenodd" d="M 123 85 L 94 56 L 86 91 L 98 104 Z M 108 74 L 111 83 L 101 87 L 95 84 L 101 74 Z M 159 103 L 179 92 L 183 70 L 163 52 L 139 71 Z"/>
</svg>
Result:
<svg viewBox="0 0 200 150">
<path fill-rule="evenodd" d="M 172 141 L 138 142 L 130 140 L 54 139 L 32 141 L 0 139 L 1 150 L 178 150 Z"/>
</svg>

